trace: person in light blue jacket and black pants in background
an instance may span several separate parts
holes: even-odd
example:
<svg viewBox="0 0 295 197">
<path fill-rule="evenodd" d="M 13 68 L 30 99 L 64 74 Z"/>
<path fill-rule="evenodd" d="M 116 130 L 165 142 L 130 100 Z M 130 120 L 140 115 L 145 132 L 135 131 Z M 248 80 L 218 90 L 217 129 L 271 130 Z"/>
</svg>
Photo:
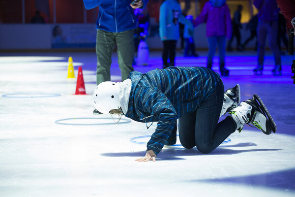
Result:
<svg viewBox="0 0 295 197">
<path fill-rule="evenodd" d="M 160 6 L 159 23 L 160 38 L 163 41 L 163 68 L 175 66 L 179 23 L 189 25 L 191 22 L 182 15 L 178 0 L 163 0 Z"/>
</svg>

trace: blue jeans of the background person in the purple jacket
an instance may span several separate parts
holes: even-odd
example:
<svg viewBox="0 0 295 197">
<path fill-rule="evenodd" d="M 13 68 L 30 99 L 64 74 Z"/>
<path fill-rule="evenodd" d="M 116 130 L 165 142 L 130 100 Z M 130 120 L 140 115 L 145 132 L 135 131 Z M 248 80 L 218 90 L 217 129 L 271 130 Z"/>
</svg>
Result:
<svg viewBox="0 0 295 197">
<path fill-rule="evenodd" d="M 219 65 L 224 65 L 225 63 L 225 36 L 211 36 L 208 37 L 209 52 L 207 56 L 207 67 L 212 66 L 213 57 L 216 50 L 216 45 L 218 46 L 219 52 Z"/>
</svg>

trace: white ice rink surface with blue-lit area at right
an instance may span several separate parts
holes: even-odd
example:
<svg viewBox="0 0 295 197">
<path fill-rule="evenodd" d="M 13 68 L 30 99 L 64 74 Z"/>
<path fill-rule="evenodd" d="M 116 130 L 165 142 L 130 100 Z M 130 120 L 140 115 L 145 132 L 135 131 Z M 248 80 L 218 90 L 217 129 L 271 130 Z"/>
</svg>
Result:
<svg viewBox="0 0 295 197">
<path fill-rule="evenodd" d="M 176 65 L 205 66 L 206 53 L 183 58 L 178 52 Z M 75 79 L 67 79 L 69 56 Z M 169 146 L 156 162 L 139 163 L 134 160 L 145 155 L 146 146 L 130 138 L 151 135 L 156 123 L 148 130 L 127 118 L 101 124 L 113 120 L 92 114 L 94 51 L 1 53 L 0 197 L 294 197 L 293 59 L 282 56 L 283 76 L 275 77 L 267 51 L 264 75 L 254 76 L 254 51 L 227 53 L 231 72 L 222 77 L 225 89 L 240 84 L 241 100 L 258 94 L 277 124 L 276 133 L 245 126 L 210 154 Z M 87 95 L 74 95 L 78 66 Z M 134 69 L 161 67 L 161 52 L 151 52 L 149 65 Z M 218 58 L 213 69 L 219 72 Z M 116 53 L 111 74 L 120 81 Z"/>
</svg>

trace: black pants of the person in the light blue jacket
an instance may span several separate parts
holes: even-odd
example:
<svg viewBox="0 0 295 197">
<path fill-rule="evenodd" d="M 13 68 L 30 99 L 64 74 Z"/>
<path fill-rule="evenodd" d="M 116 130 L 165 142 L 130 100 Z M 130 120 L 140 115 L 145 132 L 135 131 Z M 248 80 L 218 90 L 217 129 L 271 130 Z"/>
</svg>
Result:
<svg viewBox="0 0 295 197">
<path fill-rule="evenodd" d="M 163 68 L 168 66 L 175 65 L 175 55 L 176 55 L 176 43 L 177 40 L 163 40 L 163 53 L 162 53 L 162 60 L 163 60 Z M 169 63 L 168 63 L 169 57 Z"/>
</svg>

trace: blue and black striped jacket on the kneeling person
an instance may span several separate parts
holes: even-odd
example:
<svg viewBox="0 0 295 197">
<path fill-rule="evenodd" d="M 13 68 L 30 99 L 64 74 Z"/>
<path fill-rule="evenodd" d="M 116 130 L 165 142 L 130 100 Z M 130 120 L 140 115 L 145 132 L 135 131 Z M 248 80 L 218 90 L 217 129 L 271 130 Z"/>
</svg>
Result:
<svg viewBox="0 0 295 197">
<path fill-rule="evenodd" d="M 138 122 L 158 122 L 148 141 L 148 150 L 158 154 L 172 134 L 176 121 L 195 111 L 222 83 L 220 76 L 205 67 L 168 67 L 147 73 L 129 74 L 131 91 L 126 117 Z"/>
</svg>

